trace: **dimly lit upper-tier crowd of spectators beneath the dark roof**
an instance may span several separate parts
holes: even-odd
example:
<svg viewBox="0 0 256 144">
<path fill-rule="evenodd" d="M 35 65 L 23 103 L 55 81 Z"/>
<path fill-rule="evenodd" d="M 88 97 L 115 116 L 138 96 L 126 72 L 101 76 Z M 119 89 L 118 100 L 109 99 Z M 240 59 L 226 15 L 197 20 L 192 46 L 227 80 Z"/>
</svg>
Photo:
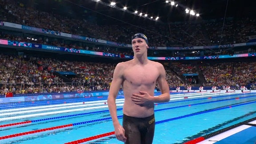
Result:
<svg viewBox="0 0 256 144">
<path fill-rule="evenodd" d="M 0 8 L 0 20 L 3 21 L 121 44 L 130 44 L 130 37 L 136 32 L 144 32 L 148 36 L 150 46 L 165 47 L 244 43 L 248 36 L 256 35 L 256 20 L 249 18 L 230 18 L 225 20 L 224 25 L 223 20 L 205 20 L 198 23 L 181 22 L 140 28 L 121 22 L 119 25 L 100 26 L 81 18 L 39 11 L 15 0 L 1 0 Z"/>
</svg>

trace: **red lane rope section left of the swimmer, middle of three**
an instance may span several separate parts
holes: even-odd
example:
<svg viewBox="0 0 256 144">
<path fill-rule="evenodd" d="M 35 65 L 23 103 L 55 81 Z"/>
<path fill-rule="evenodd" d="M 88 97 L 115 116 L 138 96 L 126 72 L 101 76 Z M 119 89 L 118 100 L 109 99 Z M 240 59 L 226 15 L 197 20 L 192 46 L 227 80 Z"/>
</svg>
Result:
<svg viewBox="0 0 256 144">
<path fill-rule="evenodd" d="M 66 128 L 66 127 L 72 127 L 73 124 L 66 124 L 66 125 L 61 125 L 61 126 L 56 126 L 56 127 L 51 127 L 51 128 L 44 128 L 44 129 L 38 129 L 34 131 L 29 131 L 29 132 L 21 132 L 21 133 L 16 133 L 8 136 L 0 136 L 0 140 L 16 137 L 16 136 L 24 136 L 24 135 L 29 135 L 37 132 L 45 132 L 45 131 L 50 131 L 58 128 Z"/>
</svg>

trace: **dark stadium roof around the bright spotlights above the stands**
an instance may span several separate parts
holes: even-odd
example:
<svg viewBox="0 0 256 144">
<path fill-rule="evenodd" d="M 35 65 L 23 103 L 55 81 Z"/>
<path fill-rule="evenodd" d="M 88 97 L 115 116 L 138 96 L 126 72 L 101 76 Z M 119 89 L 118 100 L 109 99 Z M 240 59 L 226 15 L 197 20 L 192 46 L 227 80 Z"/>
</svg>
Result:
<svg viewBox="0 0 256 144">
<path fill-rule="evenodd" d="M 59 12 L 66 16 L 96 17 L 102 24 L 109 23 L 151 23 L 150 17 L 158 22 L 170 23 L 189 20 L 209 20 L 224 17 L 254 16 L 256 8 L 251 0 L 20 0 L 35 8 L 49 12 Z M 111 2 L 115 6 L 110 6 Z M 171 5 L 171 1 L 175 4 Z M 178 6 L 176 6 L 178 4 Z M 123 10 L 127 6 L 127 10 Z M 194 10 L 192 16 L 185 9 Z M 137 14 L 134 14 L 135 11 Z M 139 16 L 140 12 L 142 16 Z M 145 14 L 148 14 L 145 18 Z M 156 22 L 156 21 L 154 21 Z"/>
</svg>

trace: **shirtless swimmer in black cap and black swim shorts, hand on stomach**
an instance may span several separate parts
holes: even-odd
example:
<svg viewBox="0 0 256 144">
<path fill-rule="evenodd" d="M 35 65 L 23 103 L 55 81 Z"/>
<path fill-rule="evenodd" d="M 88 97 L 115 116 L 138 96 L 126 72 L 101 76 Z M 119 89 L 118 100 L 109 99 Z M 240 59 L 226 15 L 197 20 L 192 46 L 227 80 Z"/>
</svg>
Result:
<svg viewBox="0 0 256 144">
<path fill-rule="evenodd" d="M 164 66 L 148 60 L 148 39 L 144 34 L 132 36 L 134 58 L 116 65 L 109 90 L 108 108 L 118 140 L 125 144 L 152 144 L 155 131 L 154 103 L 170 100 Z M 158 84 L 161 95 L 154 96 Z M 123 126 L 117 119 L 116 96 L 124 91 Z"/>
</svg>

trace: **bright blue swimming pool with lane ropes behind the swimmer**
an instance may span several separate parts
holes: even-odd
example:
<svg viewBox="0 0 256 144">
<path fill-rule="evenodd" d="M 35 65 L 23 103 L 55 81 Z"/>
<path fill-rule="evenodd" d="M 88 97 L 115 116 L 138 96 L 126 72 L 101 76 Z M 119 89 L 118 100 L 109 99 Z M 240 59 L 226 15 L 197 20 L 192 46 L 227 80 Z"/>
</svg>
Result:
<svg viewBox="0 0 256 144">
<path fill-rule="evenodd" d="M 171 92 L 155 105 L 153 144 L 182 144 L 256 117 L 255 92 Z M 1 144 L 122 144 L 113 135 L 107 97 L 43 100 L 0 105 Z M 122 121 L 124 99 L 116 100 Z"/>
</svg>

